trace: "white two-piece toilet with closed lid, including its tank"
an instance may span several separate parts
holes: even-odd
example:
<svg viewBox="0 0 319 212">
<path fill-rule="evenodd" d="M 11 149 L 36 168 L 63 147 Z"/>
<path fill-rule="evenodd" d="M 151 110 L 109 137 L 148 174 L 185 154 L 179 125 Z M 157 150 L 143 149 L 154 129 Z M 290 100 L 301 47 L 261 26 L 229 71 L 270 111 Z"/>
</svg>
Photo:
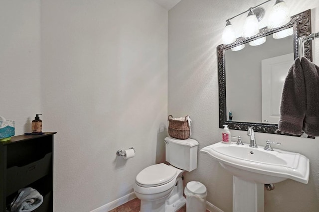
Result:
<svg viewBox="0 0 319 212">
<path fill-rule="evenodd" d="M 164 163 L 143 169 L 135 179 L 134 193 L 141 200 L 141 212 L 176 212 L 182 208 L 182 173 L 197 168 L 198 142 L 194 139 L 165 138 Z"/>
</svg>

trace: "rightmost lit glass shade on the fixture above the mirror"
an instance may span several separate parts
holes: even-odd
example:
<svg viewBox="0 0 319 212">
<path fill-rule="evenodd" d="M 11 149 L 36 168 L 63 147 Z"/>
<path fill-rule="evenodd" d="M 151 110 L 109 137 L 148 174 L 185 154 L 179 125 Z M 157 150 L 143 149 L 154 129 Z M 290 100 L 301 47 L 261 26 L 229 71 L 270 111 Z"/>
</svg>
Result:
<svg viewBox="0 0 319 212">
<path fill-rule="evenodd" d="M 278 1 L 278 0 L 277 0 Z M 276 2 L 273 6 L 269 18 L 268 18 L 268 28 L 273 29 L 283 26 L 291 20 L 289 8 L 285 1 Z"/>
</svg>

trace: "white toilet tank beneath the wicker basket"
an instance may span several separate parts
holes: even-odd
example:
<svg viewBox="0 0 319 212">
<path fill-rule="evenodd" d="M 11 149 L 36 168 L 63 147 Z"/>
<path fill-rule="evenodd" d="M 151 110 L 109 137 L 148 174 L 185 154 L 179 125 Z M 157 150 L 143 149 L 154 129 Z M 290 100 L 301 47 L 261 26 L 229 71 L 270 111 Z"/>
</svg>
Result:
<svg viewBox="0 0 319 212">
<path fill-rule="evenodd" d="M 198 142 L 188 138 L 165 138 L 165 160 L 176 168 L 192 171 L 197 168 Z"/>
</svg>

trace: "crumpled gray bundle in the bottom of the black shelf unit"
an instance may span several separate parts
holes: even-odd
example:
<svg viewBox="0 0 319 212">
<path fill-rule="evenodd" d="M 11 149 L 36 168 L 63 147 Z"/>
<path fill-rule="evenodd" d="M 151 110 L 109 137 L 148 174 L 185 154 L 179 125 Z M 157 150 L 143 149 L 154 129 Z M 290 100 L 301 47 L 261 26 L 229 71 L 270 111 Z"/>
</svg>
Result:
<svg viewBox="0 0 319 212">
<path fill-rule="evenodd" d="M 18 191 L 17 197 L 10 206 L 11 212 L 31 212 L 43 203 L 43 197 L 38 191 L 30 187 Z"/>
</svg>

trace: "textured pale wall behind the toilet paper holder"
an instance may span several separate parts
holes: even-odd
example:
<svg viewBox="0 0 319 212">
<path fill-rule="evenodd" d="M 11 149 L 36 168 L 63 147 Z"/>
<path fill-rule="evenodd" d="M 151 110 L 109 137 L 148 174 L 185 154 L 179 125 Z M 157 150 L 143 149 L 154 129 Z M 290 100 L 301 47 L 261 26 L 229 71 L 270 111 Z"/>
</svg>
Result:
<svg viewBox="0 0 319 212">
<path fill-rule="evenodd" d="M 41 35 L 45 130 L 58 132 L 54 211 L 88 212 L 132 193 L 136 175 L 164 159 L 167 10 L 43 0 Z M 131 146 L 134 158 L 116 156 Z"/>
</svg>

